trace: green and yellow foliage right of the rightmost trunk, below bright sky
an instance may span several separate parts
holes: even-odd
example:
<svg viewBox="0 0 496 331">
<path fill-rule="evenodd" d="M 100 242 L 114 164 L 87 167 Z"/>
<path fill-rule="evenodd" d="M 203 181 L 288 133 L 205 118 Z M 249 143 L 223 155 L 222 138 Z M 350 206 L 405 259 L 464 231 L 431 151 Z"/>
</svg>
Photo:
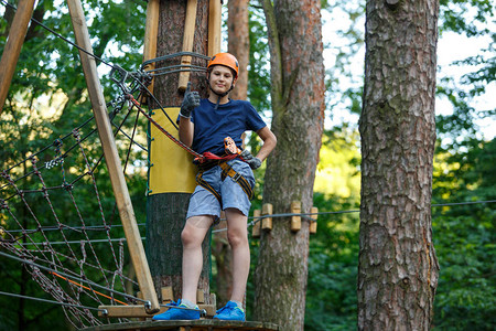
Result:
<svg viewBox="0 0 496 331">
<path fill-rule="evenodd" d="M 433 203 L 496 200 L 496 140 L 467 140 L 455 152 L 440 148 Z M 496 253 L 493 203 L 433 207 L 434 245 L 441 266 L 436 330 L 493 330 Z"/>
</svg>

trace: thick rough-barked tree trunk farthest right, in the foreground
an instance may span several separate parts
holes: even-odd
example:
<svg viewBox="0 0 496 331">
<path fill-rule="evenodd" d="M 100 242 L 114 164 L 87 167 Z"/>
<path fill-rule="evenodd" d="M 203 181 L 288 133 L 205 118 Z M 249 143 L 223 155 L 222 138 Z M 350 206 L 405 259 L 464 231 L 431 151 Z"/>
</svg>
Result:
<svg viewBox="0 0 496 331">
<path fill-rule="evenodd" d="M 359 330 L 429 330 L 438 41 L 435 0 L 367 1 Z"/>
</svg>

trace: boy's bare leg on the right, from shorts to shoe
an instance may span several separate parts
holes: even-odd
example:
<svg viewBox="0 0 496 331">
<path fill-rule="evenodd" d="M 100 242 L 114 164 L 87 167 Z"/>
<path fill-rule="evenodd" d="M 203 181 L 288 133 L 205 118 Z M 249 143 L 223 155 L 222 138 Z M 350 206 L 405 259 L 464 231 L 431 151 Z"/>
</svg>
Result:
<svg viewBox="0 0 496 331">
<path fill-rule="evenodd" d="M 233 248 L 233 301 L 242 302 L 250 271 L 248 217 L 237 209 L 226 209 L 227 238 Z"/>
</svg>

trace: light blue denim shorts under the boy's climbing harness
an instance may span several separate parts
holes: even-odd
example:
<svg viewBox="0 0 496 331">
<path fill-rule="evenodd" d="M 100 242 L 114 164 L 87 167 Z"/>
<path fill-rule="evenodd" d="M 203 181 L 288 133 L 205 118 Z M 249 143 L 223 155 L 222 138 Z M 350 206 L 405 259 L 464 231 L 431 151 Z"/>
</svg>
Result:
<svg viewBox="0 0 496 331">
<path fill-rule="evenodd" d="M 248 181 L 251 189 L 254 189 L 255 177 L 248 163 L 237 159 L 227 161 L 227 163 L 233 167 L 236 172 L 242 175 Z M 226 179 L 222 181 L 222 172 L 223 170 L 220 167 L 216 166 L 205 171 L 203 173 L 203 179 L 220 194 L 223 201 L 222 210 L 237 209 L 245 216 L 248 216 L 251 206 L 248 195 L 230 177 L 226 177 Z M 213 215 L 216 216 L 216 218 L 220 217 L 219 201 L 208 190 L 200 185 L 196 186 L 191 195 L 186 218 L 198 215 Z"/>
</svg>

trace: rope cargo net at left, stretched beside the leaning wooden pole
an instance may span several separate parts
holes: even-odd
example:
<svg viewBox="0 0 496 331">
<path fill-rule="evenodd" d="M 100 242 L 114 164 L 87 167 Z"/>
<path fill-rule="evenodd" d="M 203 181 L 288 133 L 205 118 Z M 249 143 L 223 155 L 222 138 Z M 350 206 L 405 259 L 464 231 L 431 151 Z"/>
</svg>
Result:
<svg viewBox="0 0 496 331">
<path fill-rule="evenodd" d="M 109 104 L 109 117 L 127 180 L 145 182 L 148 164 L 128 162 L 133 156 L 145 163 L 147 157 L 136 141 L 137 126 L 123 126 L 132 117 L 127 105 L 123 97 Z M 7 169 L 0 173 L 2 263 L 21 263 L 54 300 L 37 299 L 61 305 L 76 328 L 118 322 L 99 318 L 100 305 L 143 303 L 132 295 L 138 284 L 101 150 L 91 117 L 15 164 L 2 161 Z"/>
</svg>

